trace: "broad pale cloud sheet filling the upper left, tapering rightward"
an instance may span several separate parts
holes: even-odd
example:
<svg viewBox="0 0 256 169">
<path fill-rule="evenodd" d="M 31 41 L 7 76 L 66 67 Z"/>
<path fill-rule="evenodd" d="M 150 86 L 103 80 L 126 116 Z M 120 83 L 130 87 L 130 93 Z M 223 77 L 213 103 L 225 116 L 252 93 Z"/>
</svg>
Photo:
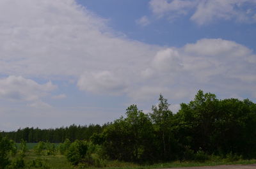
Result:
<svg viewBox="0 0 256 169">
<path fill-rule="evenodd" d="M 136 58 L 147 59 L 158 48 L 115 34 L 106 20 L 74 0 L 3 0 L 0 22 L 4 75 L 51 78 L 116 71 L 138 66 Z"/>
</svg>

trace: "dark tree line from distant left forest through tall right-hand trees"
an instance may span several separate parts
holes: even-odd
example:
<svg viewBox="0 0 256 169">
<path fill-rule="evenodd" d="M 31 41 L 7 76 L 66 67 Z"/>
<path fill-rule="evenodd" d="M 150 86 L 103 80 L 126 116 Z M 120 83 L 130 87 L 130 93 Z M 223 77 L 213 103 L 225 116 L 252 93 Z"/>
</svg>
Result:
<svg viewBox="0 0 256 169">
<path fill-rule="evenodd" d="M 186 160 L 204 154 L 256 158 L 256 104 L 249 99 L 217 99 L 215 94 L 198 91 L 195 99 L 180 104 L 177 114 L 169 106 L 160 95 L 152 113 L 131 105 L 125 117 L 102 126 L 73 124 L 1 133 L 15 142 L 87 140 L 101 145 L 109 158 L 122 161 Z"/>
</svg>

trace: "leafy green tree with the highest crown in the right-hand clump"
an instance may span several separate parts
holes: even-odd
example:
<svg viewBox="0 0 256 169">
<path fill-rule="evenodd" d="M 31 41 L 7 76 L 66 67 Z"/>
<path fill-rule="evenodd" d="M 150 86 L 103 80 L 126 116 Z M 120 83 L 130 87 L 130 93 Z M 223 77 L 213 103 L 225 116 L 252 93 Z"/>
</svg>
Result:
<svg viewBox="0 0 256 169">
<path fill-rule="evenodd" d="M 195 99 L 189 104 L 180 104 L 179 130 L 184 140 L 183 143 L 189 145 L 194 151 L 214 151 L 212 138 L 214 132 L 214 122 L 218 119 L 218 104 L 215 94 L 198 91 Z"/>
</svg>

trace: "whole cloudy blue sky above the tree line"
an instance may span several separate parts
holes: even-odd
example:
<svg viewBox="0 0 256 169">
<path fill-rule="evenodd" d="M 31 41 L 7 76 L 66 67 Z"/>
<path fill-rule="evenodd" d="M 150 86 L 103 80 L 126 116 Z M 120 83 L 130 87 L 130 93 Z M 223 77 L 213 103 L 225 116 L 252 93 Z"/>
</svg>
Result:
<svg viewBox="0 0 256 169">
<path fill-rule="evenodd" d="M 1 0 L 0 130 L 256 102 L 256 0 Z"/>
</svg>

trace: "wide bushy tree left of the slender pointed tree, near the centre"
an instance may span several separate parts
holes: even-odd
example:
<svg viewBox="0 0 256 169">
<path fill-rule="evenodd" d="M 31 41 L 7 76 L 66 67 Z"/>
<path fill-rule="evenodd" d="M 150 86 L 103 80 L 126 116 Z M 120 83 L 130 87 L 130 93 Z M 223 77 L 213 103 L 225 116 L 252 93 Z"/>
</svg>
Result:
<svg viewBox="0 0 256 169">
<path fill-rule="evenodd" d="M 153 158 L 152 122 L 136 105 L 127 108 L 127 117 L 104 129 L 104 148 L 111 159 L 141 162 Z"/>
</svg>

